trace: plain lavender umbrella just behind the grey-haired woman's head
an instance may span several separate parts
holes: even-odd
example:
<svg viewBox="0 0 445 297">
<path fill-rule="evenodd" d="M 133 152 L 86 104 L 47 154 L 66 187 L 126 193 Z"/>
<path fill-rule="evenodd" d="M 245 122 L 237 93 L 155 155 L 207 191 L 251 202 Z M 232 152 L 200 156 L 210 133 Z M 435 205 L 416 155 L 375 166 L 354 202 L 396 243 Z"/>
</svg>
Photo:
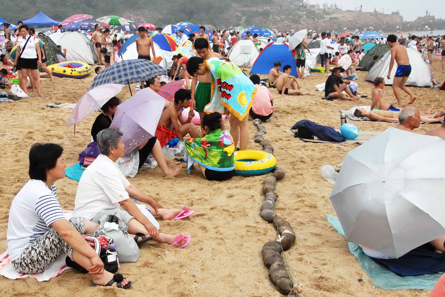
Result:
<svg viewBox="0 0 445 297">
<path fill-rule="evenodd" d="M 150 88 L 145 88 L 118 105 L 110 127 L 117 127 L 124 134 L 125 154 L 155 135 L 166 101 Z"/>
</svg>

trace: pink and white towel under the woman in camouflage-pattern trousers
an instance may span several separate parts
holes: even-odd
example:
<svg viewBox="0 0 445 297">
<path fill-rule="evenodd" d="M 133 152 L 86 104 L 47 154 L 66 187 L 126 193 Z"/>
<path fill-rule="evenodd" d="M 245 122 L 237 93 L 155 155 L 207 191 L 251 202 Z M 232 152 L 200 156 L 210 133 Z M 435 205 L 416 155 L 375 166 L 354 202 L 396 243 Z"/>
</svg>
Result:
<svg viewBox="0 0 445 297">
<path fill-rule="evenodd" d="M 63 213 L 67 220 L 72 217 L 71 210 L 63 210 Z M 34 277 L 38 282 L 49 281 L 51 278 L 59 276 L 63 271 L 67 269 L 71 269 L 71 267 L 66 266 L 65 264 L 66 254 L 61 254 L 57 260 L 55 260 L 52 265 L 46 269 L 44 272 L 36 273 L 36 274 L 22 274 L 17 272 L 11 264 L 11 260 L 9 259 L 8 251 L 6 250 L 4 253 L 0 255 L 0 275 L 15 280 L 18 278 L 24 277 Z"/>
</svg>

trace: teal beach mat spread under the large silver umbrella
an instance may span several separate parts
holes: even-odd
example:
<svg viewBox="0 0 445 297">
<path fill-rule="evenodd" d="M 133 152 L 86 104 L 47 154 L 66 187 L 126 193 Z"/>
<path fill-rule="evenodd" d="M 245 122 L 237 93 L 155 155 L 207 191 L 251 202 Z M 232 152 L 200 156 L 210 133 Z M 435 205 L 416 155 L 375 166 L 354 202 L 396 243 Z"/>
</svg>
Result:
<svg viewBox="0 0 445 297">
<path fill-rule="evenodd" d="M 326 214 L 327 221 L 334 229 L 345 237 L 338 217 Z M 400 276 L 385 266 L 378 264 L 367 256 L 363 249 L 355 244 L 348 243 L 349 250 L 357 258 L 361 268 L 368 274 L 374 286 L 384 290 L 426 289 L 432 290 L 443 273 L 436 272 L 417 276 Z"/>
</svg>

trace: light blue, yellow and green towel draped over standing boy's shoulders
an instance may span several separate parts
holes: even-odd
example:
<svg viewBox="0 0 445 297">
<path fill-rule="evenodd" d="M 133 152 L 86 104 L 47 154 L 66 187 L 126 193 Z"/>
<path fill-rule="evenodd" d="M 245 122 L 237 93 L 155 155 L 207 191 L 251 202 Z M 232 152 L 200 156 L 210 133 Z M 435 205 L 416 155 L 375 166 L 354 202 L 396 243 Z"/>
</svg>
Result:
<svg viewBox="0 0 445 297">
<path fill-rule="evenodd" d="M 219 58 L 206 60 L 207 67 L 213 77 L 212 97 L 204 112 L 227 110 L 242 120 L 252 107 L 257 88 L 246 74 L 235 64 Z"/>
</svg>

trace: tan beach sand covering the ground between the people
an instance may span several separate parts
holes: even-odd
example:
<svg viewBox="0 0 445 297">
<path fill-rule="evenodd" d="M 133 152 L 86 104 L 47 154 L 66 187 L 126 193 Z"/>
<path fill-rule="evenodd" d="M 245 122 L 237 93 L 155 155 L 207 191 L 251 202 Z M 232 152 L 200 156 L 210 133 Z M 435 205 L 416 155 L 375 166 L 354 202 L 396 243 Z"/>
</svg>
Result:
<svg viewBox="0 0 445 297">
<path fill-rule="evenodd" d="M 440 57 L 435 57 L 435 78 L 444 81 Z M 267 134 L 275 148 L 278 165 L 286 170 L 286 177 L 277 182 L 279 198 L 277 213 L 292 225 L 296 243 L 285 252 L 292 277 L 302 284 L 300 296 L 429 296 L 428 290 L 384 291 L 376 289 L 347 244 L 326 221 L 325 214 L 335 215 L 328 196 L 332 185 L 320 174 L 325 164 L 343 161 L 354 144 L 313 144 L 295 139 L 289 128 L 302 119 L 318 124 L 340 127 L 338 109 L 355 105 L 370 105 L 373 85 L 364 82 L 365 72 L 357 71 L 358 91 L 367 95 L 358 101 L 326 101 L 315 85 L 326 80 L 327 75 L 314 75 L 301 80 L 302 90 L 311 96 L 281 96 L 275 89 L 274 111 L 271 122 L 265 123 Z M 45 104 L 77 102 L 88 91 L 94 74 L 76 80 L 54 78 L 42 82 L 46 98 L 33 95 L 30 99 L 0 103 L 0 251 L 6 247 L 6 229 L 9 205 L 15 194 L 28 181 L 28 152 L 36 142 L 54 142 L 64 148 L 68 166 L 77 163 L 78 153 L 90 140 L 90 128 L 97 116 L 92 113 L 78 125 L 67 128 L 71 109 L 48 108 Z M 134 85 L 132 86 L 134 88 Z M 445 92 L 429 88 L 410 90 L 417 95 L 414 103 L 420 109 L 436 105 L 444 109 Z M 133 91 L 134 92 L 134 91 Z M 384 89 L 385 97 L 394 103 L 391 86 Z M 119 95 L 130 97 L 128 88 Z M 402 94 L 403 101 L 408 101 Z M 280 124 L 277 127 L 277 123 Z M 356 121 L 360 130 L 384 131 L 393 123 Z M 226 127 L 228 128 L 228 121 Z M 425 133 L 439 124 L 422 124 L 416 131 Z M 261 149 L 253 141 L 257 128 L 249 122 L 248 149 Z M 187 176 L 183 170 L 178 177 L 165 179 L 160 168 L 142 169 L 130 182 L 154 197 L 165 207 L 190 206 L 195 213 L 184 220 L 161 221 L 164 233 L 191 234 L 188 247 L 174 248 L 165 244 L 143 245 L 141 256 L 135 263 L 122 263 L 119 270 L 133 281 L 130 290 L 89 287 L 88 275 L 74 270 L 48 282 L 38 283 L 34 278 L 8 280 L 0 277 L 1 296 L 252 296 L 279 297 L 269 281 L 263 264 L 261 250 L 265 243 L 277 238 L 276 230 L 259 216 L 264 176 L 237 176 L 226 182 L 206 181 L 201 172 L 192 171 Z M 60 204 L 65 209 L 74 208 L 78 182 L 65 178 L 56 182 Z M 362 280 L 361 282 L 358 280 Z M 118 290 L 118 291 L 117 291 Z"/>
</svg>

